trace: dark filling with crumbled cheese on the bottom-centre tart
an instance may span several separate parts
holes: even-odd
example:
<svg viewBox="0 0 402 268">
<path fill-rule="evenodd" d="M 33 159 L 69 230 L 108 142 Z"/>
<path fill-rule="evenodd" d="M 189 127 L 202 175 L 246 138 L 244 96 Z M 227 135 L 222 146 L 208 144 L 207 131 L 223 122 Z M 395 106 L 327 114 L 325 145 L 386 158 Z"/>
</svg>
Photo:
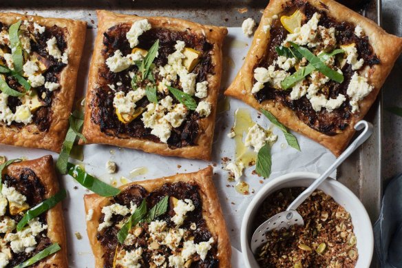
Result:
<svg viewBox="0 0 402 268">
<path fill-rule="evenodd" d="M 192 183 L 167 183 L 152 192 L 132 185 L 115 196 L 98 226 L 104 267 L 218 267 L 218 241 L 202 218 L 198 190 Z M 138 222 L 122 238 L 132 216 Z"/>
</svg>

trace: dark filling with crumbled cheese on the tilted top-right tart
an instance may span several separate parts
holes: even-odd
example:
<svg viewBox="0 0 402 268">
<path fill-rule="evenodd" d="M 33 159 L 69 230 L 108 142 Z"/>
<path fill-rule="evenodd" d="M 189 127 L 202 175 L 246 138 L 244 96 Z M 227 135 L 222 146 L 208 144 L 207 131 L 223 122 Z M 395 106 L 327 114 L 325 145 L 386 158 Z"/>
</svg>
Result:
<svg viewBox="0 0 402 268">
<path fill-rule="evenodd" d="M 273 17 L 271 41 L 254 69 L 252 94 L 274 100 L 327 135 L 343 132 L 373 90 L 370 68 L 379 64 L 359 25 L 339 22 L 304 1 Z"/>
</svg>

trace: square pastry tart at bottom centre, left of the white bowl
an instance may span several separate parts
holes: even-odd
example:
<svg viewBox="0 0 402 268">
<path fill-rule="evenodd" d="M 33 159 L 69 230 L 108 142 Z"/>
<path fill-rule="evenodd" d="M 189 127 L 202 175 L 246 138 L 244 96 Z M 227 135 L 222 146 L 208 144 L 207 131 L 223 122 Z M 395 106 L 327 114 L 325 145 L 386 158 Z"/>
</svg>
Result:
<svg viewBox="0 0 402 268">
<path fill-rule="evenodd" d="M 212 170 L 129 183 L 114 198 L 85 195 L 95 266 L 230 268 L 231 246 Z M 163 200 L 166 210 L 145 220 Z M 142 202 L 147 216 L 119 240 L 122 226 L 138 213 Z"/>
</svg>

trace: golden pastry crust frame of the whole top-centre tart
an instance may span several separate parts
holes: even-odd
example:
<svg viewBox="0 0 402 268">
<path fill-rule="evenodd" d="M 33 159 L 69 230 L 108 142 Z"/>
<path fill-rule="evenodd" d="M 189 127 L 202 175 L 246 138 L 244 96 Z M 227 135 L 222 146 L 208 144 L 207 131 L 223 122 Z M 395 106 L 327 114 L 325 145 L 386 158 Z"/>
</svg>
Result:
<svg viewBox="0 0 402 268">
<path fill-rule="evenodd" d="M 96 85 L 98 83 L 98 75 L 100 66 L 104 64 L 105 59 L 101 54 L 103 47 L 103 33 L 110 27 L 119 23 L 133 23 L 140 19 L 148 19 L 153 27 L 164 28 L 168 30 L 185 31 L 189 30 L 194 34 L 205 34 L 209 43 L 213 44 L 211 50 L 211 62 L 214 65 L 213 75 L 207 76 L 208 96 L 205 101 L 211 103 L 211 114 L 206 118 L 199 120 L 201 133 L 195 141 L 198 145 L 185 146 L 178 149 L 170 149 L 166 143 L 155 143 L 142 138 L 118 138 L 116 136 L 108 136 L 100 131 L 99 125 L 92 122 L 91 103 L 96 94 Z M 116 14 L 105 10 L 98 11 L 98 36 L 95 41 L 94 54 L 92 55 L 91 67 L 89 70 L 89 81 L 87 98 L 85 104 L 85 121 L 83 125 L 83 134 L 87 139 L 87 143 L 105 143 L 121 147 L 129 147 L 139 149 L 145 152 L 162 154 L 166 156 L 182 156 L 185 158 L 199 158 L 204 160 L 211 159 L 211 145 L 213 141 L 213 130 L 215 127 L 216 103 L 218 100 L 218 92 L 220 90 L 220 78 L 222 74 L 222 43 L 227 34 L 227 29 L 223 27 L 215 27 L 209 25 L 201 25 L 191 21 L 182 19 L 173 19 L 167 17 L 137 17 L 133 15 Z M 83 143 L 82 141 L 80 142 Z"/>
</svg>

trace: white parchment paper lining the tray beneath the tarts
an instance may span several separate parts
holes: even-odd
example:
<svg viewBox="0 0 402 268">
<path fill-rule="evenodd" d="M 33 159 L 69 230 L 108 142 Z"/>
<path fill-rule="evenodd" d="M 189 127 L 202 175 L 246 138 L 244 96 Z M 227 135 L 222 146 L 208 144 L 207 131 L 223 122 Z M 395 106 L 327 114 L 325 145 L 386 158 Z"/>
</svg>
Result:
<svg viewBox="0 0 402 268">
<path fill-rule="evenodd" d="M 92 45 L 96 30 L 87 30 L 87 41 L 81 62 L 81 70 L 79 71 L 77 96 L 80 99 L 85 95 L 87 86 L 87 72 L 89 68 L 90 56 L 92 54 Z M 251 38 L 247 38 L 242 33 L 241 28 L 229 28 L 229 36 L 226 38 L 224 45 L 224 74 L 222 77 L 222 89 L 226 88 L 233 81 L 237 71 L 240 69 L 244 56 L 251 45 Z M 257 111 L 248 105 L 236 99 L 230 99 L 230 110 L 217 115 L 215 136 L 213 143 L 213 161 L 197 161 L 188 160 L 178 157 L 164 157 L 154 154 L 147 154 L 138 150 L 113 147 L 109 145 L 85 145 L 83 149 L 85 169 L 101 180 L 110 183 L 117 181 L 120 184 L 120 178 L 125 176 L 129 178 L 129 172 L 136 167 L 147 167 L 147 174 L 136 176 L 131 181 L 159 178 L 160 176 L 170 176 L 176 173 L 195 172 L 198 169 L 207 167 L 207 165 L 215 164 L 214 182 L 218 191 L 220 203 L 226 219 L 226 226 L 231 237 L 231 244 L 234 247 L 233 265 L 234 267 L 242 267 L 242 257 L 236 249 L 240 249 L 240 226 L 242 223 L 242 215 L 253 198 L 254 194 L 243 196 L 235 192 L 231 187 L 234 183 L 227 181 L 228 173 L 222 169 L 222 157 L 234 159 L 234 140 L 228 138 L 226 134 L 234 123 L 234 113 L 239 107 L 245 107 L 251 111 L 253 120 L 263 127 L 268 128 L 271 123 L 264 116 L 257 118 Z M 328 150 L 321 145 L 311 141 L 304 136 L 295 134 L 301 152 L 289 147 L 286 140 L 276 127 L 273 132 L 279 136 L 278 141 L 272 148 L 273 167 L 271 177 L 264 180 L 273 180 L 275 177 L 295 171 L 323 172 L 329 165 L 335 161 Z M 19 147 L 11 147 L 0 145 L 0 155 L 6 155 L 8 159 L 19 158 L 21 156 L 33 159 L 52 154 L 55 161 L 57 154 L 47 152 L 45 150 L 34 150 Z M 118 165 L 116 174 L 107 174 L 105 169 L 106 161 L 111 160 Z M 181 166 L 180 168 L 178 166 Z M 258 189 L 264 185 L 260 183 L 262 178 L 252 175 L 254 168 L 246 169 L 243 179 L 250 185 L 251 191 L 258 192 Z M 88 191 L 78 185 L 70 176 L 59 176 L 61 185 L 68 191 L 68 196 L 63 202 L 65 210 L 65 223 L 67 228 L 67 245 L 70 259 L 70 267 L 93 267 L 94 258 L 89 246 L 86 235 L 85 212 L 83 206 L 83 194 Z M 227 187 L 226 185 L 230 185 Z M 78 189 L 74 189 L 78 186 Z M 82 235 L 82 239 L 78 240 L 74 235 L 75 232 Z"/>
</svg>

